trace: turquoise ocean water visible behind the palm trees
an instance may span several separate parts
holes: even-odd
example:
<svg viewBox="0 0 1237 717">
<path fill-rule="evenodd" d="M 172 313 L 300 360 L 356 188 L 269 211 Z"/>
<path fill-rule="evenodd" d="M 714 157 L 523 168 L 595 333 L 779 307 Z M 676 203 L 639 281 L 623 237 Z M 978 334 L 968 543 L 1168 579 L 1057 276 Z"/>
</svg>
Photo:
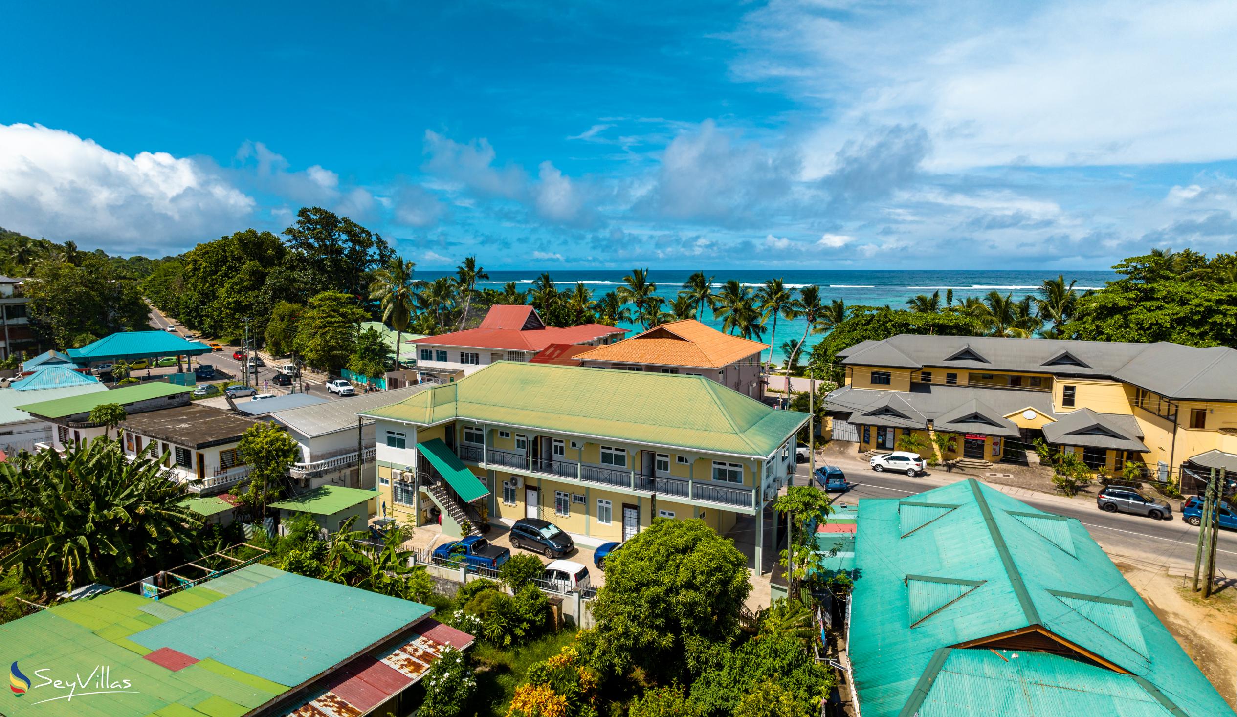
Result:
<svg viewBox="0 0 1237 717">
<path fill-rule="evenodd" d="M 487 272 L 487 281 L 477 282 L 479 288 L 501 289 L 507 282 L 516 282 L 522 289 L 532 287 L 541 272 L 538 271 L 491 271 Z M 621 269 L 563 269 L 552 271 L 555 286 L 559 289 L 570 289 L 576 282 L 584 282 L 593 291 L 594 298 L 600 298 L 607 292 L 612 292 L 623 284 L 622 278 L 628 271 Z M 649 281 L 657 284 L 657 294 L 664 297 L 667 303 L 678 295 L 683 288 L 683 282 L 690 277 L 693 271 L 680 269 L 651 269 Z M 706 271 L 706 276 L 713 276 L 714 286 L 720 287 L 729 279 L 752 287 L 760 287 L 769 278 L 782 278 L 788 288 L 800 288 L 810 284 L 820 287 L 824 303 L 833 299 L 841 299 L 846 305 L 888 305 L 904 308 L 907 299 L 917 294 L 930 295 L 934 291 L 940 291 L 941 303 L 945 300 L 945 291 L 954 289 L 954 300 L 962 302 L 967 297 L 983 297 L 991 291 L 1003 294 L 1013 294 L 1019 299 L 1025 294 L 1034 294 L 1044 279 L 1055 278 L 1064 274 L 1066 283 L 1076 281 L 1075 289 L 1103 288 L 1105 282 L 1117 279 L 1117 274 L 1110 271 L 971 271 L 971 269 L 933 269 L 933 271 L 830 271 L 830 269 L 713 269 Z M 422 279 L 432 279 L 443 276 L 443 272 L 417 272 Z M 704 321 L 720 329 L 721 321 L 705 309 Z M 805 323 L 802 320 L 785 320 L 778 318 L 777 335 L 772 336 L 774 345 L 773 360 L 781 361 L 779 350 L 783 341 L 798 341 L 803 336 Z M 622 324 L 623 329 L 640 331 L 638 325 Z M 772 319 L 766 323 L 766 333 L 762 341 L 769 342 Z M 805 350 L 815 345 L 820 336 L 808 336 L 804 344 Z"/>
</svg>

